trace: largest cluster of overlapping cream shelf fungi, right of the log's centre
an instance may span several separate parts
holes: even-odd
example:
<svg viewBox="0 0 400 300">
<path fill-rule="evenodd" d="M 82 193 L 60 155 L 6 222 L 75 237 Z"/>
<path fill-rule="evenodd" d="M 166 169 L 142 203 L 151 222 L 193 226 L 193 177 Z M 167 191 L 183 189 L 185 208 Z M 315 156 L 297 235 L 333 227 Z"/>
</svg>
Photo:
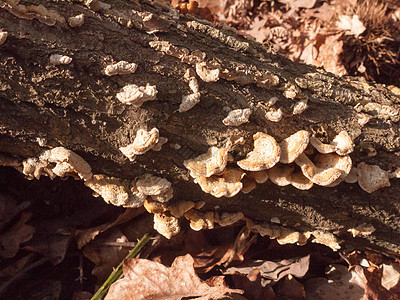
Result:
<svg viewBox="0 0 400 300">
<path fill-rule="evenodd" d="M 350 153 L 353 142 L 347 132 L 336 135 L 324 144 L 308 131 L 300 130 L 279 144 L 262 132 L 253 135 L 254 149 L 236 164 L 240 169 L 227 166 L 228 150 L 211 147 L 207 153 L 184 161 L 194 182 L 214 197 L 233 197 L 239 191 L 248 193 L 268 179 L 278 185 L 292 185 L 308 190 L 314 184 L 335 187 L 341 182 L 356 183 L 368 193 L 389 186 L 390 172 L 360 163 L 352 164 Z M 310 144 L 318 151 L 312 158 L 306 153 Z M 306 151 L 307 150 L 307 151 Z M 392 176 L 394 177 L 394 176 Z"/>
</svg>

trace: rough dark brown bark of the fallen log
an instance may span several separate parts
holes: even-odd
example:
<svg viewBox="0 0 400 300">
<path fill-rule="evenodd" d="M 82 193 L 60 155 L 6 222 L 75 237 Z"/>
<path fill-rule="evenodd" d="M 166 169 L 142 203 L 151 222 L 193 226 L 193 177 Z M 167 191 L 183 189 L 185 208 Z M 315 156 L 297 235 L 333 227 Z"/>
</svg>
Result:
<svg viewBox="0 0 400 300">
<path fill-rule="evenodd" d="M 241 211 L 259 221 L 277 217 L 296 230 L 333 232 L 345 240 L 345 247 L 399 253 L 400 180 L 392 179 L 390 187 L 372 194 L 357 184 L 300 191 L 267 182 L 249 194 L 215 198 L 202 192 L 183 166 L 183 160 L 210 146 L 223 146 L 234 135 L 246 140 L 231 151 L 237 161 L 252 149 L 256 132 L 280 142 L 305 129 L 326 140 L 346 130 L 356 145 L 351 154 L 355 165 L 366 162 L 393 170 L 400 166 L 400 100 L 386 88 L 294 63 L 229 28 L 214 28 L 190 15 L 174 19 L 160 3 L 114 1 L 106 9 L 99 9 L 96 1 L 23 4 L 43 4 L 60 17 L 23 14 L 11 1 L 0 1 L 0 28 L 8 32 L 0 46 L 3 155 L 22 161 L 64 146 L 81 155 L 94 174 L 133 179 L 152 173 L 167 178 L 174 188 L 171 201 L 204 200 L 205 210 L 218 206 L 220 211 Z M 66 19 L 81 13 L 83 26 L 70 27 Z M 165 43 L 170 50 L 165 50 Z M 51 54 L 68 55 L 72 62 L 53 66 Z M 135 62 L 138 69 L 105 76 L 105 66 L 120 60 Z M 219 68 L 220 79 L 198 79 L 200 103 L 179 113 L 182 95 L 191 93 L 185 71 L 201 61 Z M 157 100 L 139 108 L 119 102 L 116 94 L 130 83 L 156 85 Z M 273 96 L 279 99 L 274 107 L 284 112 L 279 122 L 265 118 L 270 109 L 266 103 Z M 302 97 L 308 97 L 309 107 L 293 115 L 293 105 Z M 367 109 L 367 103 L 380 106 Z M 222 123 L 229 109 L 247 107 L 253 112 L 249 123 Z M 365 118 L 370 120 L 363 122 Z M 161 151 L 149 151 L 130 162 L 119 147 L 131 143 L 139 128 L 153 127 L 168 143 Z M 374 144 L 376 156 L 363 151 L 366 142 Z M 364 223 L 376 231 L 364 238 L 347 232 Z"/>
</svg>

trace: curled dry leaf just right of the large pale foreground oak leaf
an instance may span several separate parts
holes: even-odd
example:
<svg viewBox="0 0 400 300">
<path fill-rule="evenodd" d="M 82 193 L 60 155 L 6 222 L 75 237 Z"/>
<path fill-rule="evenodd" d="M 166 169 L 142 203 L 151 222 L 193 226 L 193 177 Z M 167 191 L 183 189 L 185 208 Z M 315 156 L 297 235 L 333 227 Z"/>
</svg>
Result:
<svg viewBox="0 0 400 300">
<path fill-rule="evenodd" d="M 254 268 L 257 268 L 261 272 L 261 276 L 266 278 L 268 283 L 270 281 L 279 281 L 286 275 L 293 275 L 296 277 L 303 277 L 310 264 L 310 255 L 301 258 L 284 259 L 278 262 L 265 261 L 265 260 L 253 260 L 247 261 L 237 267 L 230 267 L 224 271 L 224 274 L 249 274 Z"/>
</svg>

